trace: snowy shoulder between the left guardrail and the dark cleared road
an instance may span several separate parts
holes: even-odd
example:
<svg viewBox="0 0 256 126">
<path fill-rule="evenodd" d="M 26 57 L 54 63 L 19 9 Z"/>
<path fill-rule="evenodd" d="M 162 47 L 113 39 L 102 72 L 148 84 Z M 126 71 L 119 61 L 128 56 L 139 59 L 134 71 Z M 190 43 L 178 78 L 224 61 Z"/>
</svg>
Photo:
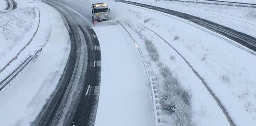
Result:
<svg viewBox="0 0 256 126">
<path fill-rule="evenodd" d="M 44 3 L 38 7 L 41 22 L 29 48 L 42 47 L 42 51 L 0 92 L 1 126 L 30 125 L 54 91 L 68 59 L 69 34 L 60 14 Z"/>
</svg>

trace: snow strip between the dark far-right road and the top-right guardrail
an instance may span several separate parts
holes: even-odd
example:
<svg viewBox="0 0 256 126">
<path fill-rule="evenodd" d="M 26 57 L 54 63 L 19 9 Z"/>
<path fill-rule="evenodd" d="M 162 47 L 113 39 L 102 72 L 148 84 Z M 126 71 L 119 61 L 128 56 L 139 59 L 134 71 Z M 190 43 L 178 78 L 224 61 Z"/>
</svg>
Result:
<svg viewBox="0 0 256 126">
<path fill-rule="evenodd" d="M 227 26 L 237 31 L 256 37 L 256 9 L 227 7 L 218 5 L 205 5 L 193 3 L 180 3 L 168 1 L 152 0 L 129 0 L 157 7 L 167 8 L 200 18 L 204 18 L 215 23 Z"/>
</svg>

